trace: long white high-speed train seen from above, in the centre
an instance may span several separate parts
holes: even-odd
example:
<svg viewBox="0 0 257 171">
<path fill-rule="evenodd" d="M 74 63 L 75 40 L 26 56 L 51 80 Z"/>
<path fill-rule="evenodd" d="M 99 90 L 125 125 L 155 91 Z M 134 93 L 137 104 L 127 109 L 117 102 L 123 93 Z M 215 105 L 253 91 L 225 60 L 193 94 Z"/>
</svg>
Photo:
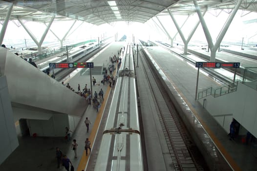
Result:
<svg viewBox="0 0 257 171">
<path fill-rule="evenodd" d="M 122 59 L 95 171 L 143 171 L 132 48 Z"/>
</svg>

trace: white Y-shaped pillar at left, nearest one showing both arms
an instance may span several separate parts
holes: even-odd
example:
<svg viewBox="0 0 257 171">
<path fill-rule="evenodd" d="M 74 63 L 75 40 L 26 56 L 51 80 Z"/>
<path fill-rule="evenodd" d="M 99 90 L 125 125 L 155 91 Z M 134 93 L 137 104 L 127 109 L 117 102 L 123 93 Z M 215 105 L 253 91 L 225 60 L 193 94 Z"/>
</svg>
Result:
<svg viewBox="0 0 257 171">
<path fill-rule="evenodd" d="M 43 44 L 43 40 L 48 32 L 48 30 L 50 29 L 50 26 L 52 24 L 52 22 L 54 21 L 55 16 L 53 15 L 51 21 L 48 23 L 48 26 L 46 27 L 42 38 L 40 40 L 40 42 L 37 41 L 36 37 L 33 35 L 33 33 L 30 32 L 30 30 L 25 26 L 25 24 L 21 21 L 21 19 L 18 18 L 19 22 L 21 23 L 21 25 L 23 26 L 23 28 L 26 30 L 26 32 L 29 34 L 29 36 L 32 38 L 32 40 L 37 44 L 38 49 L 39 49 L 39 54 L 42 54 L 42 48 L 41 45 Z"/>
</svg>

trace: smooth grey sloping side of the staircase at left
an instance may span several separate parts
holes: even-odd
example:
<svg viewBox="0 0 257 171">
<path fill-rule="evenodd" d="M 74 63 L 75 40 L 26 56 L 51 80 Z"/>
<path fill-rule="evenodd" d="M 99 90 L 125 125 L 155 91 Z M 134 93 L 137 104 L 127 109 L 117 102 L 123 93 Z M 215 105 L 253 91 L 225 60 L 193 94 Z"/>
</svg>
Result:
<svg viewBox="0 0 257 171">
<path fill-rule="evenodd" d="M 78 117 L 86 110 L 84 98 L 3 47 L 0 73 L 6 76 L 12 103 Z"/>
</svg>

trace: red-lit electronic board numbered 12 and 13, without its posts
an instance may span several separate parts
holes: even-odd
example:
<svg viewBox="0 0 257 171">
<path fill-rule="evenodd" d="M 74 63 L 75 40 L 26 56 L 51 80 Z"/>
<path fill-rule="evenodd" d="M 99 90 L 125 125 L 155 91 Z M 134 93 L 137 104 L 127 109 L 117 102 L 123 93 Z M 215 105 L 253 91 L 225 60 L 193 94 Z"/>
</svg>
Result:
<svg viewBox="0 0 257 171">
<path fill-rule="evenodd" d="M 198 68 L 239 68 L 240 63 L 211 63 L 211 62 L 196 62 L 195 67 Z"/>
</svg>

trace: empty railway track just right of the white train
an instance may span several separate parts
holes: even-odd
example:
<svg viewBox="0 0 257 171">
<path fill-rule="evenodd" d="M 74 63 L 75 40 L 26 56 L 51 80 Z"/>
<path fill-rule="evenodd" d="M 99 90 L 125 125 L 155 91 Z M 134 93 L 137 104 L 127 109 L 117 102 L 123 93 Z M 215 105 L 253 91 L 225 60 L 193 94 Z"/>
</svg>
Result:
<svg viewBox="0 0 257 171">
<path fill-rule="evenodd" d="M 175 170 L 208 170 L 146 54 L 140 51 L 140 56 Z"/>
</svg>

